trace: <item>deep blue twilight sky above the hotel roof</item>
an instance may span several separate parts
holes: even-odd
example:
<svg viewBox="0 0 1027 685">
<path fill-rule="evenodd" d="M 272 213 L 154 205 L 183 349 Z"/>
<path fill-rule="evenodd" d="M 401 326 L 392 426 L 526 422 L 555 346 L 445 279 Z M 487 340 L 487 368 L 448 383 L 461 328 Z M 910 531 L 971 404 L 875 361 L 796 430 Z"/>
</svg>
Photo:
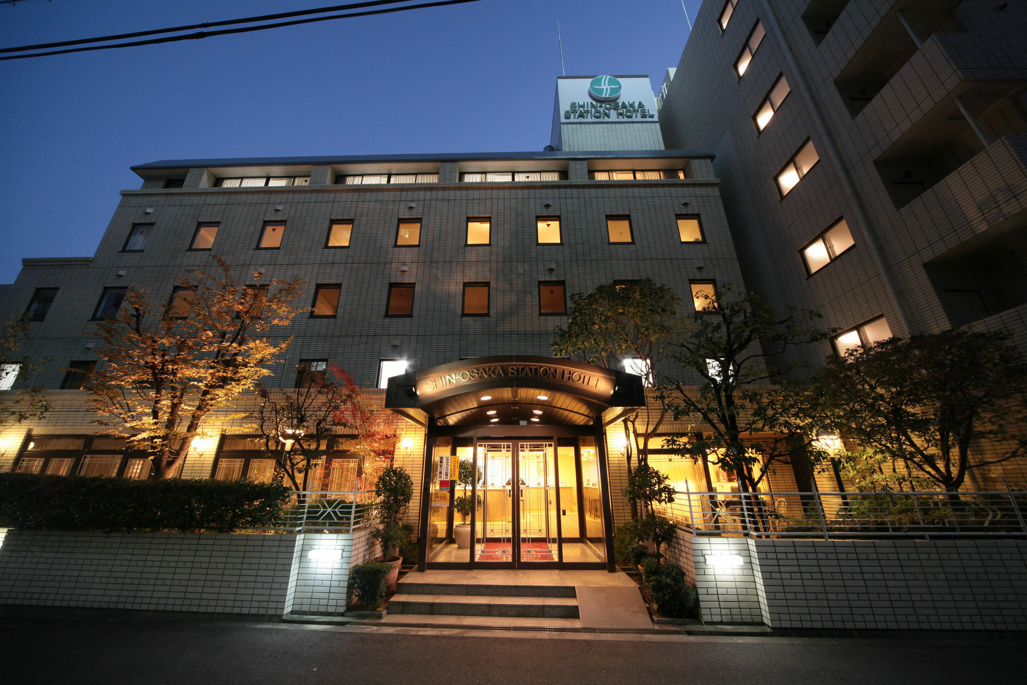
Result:
<svg viewBox="0 0 1027 685">
<path fill-rule="evenodd" d="M 342 4 L 26 0 L 0 47 Z M 694 21 L 700 0 L 685 0 Z M 22 257 L 92 255 L 157 159 L 541 150 L 557 21 L 568 75 L 649 74 L 688 37 L 681 0 L 481 0 L 237 36 L 0 62 L 0 283 Z"/>
</svg>

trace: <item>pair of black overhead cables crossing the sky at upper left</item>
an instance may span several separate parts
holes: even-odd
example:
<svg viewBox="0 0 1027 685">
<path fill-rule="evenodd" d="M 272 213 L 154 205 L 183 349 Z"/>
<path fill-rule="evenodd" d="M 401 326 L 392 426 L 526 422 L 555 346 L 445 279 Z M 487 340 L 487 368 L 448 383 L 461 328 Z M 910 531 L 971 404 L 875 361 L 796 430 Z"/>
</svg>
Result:
<svg viewBox="0 0 1027 685">
<path fill-rule="evenodd" d="M 0 53 L 18 52 L 18 51 L 25 51 L 25 50 L 38 50 L 38 49 L 43 49 L 43 48 L 62 47 L 62 46 L 68 46 L 68 45 L 84 45 L 86 43 L 96 43 L 96 42 L 111 41 L 111 40 L 122 40 L 124 38 L 136 38 L 136 37 L 142 37 L 142 36 L 154 36 L 154 35 L 160 35 L 160 34 L 164 34 L 164 33 L 175 33 L 175 32 L 178 32 L 178 31 L 190 31 L 190 30 L 193 30 L 193 29 L 201 29 L 201 28 L 210 28 L 210 27 L 218 27 L 218 26 L 232 26 L 232 25 L 236 25 L 236 24 L 252 24 L 252 23 L 256 23 L 256 22 L 266 22 L 266 21 L 271 21 L 271 20 L 275 20 L 275 19 L 283 19 L 283 17 L 290 17 L 290 16 L 302 16 L 302 15 L 307 15 L 307 14 L 320 14 L 320 13 L 325 13 L 325 12 L 332 12 L 332 11 L 339 11 L 339 10 L 350 10 L 350 9 L 358 9 L 358 8 L 362 8 L 362 7 L 373 7 L 373 6 L 379 6 L 379 5 L 395 4 L 396 2 L 402 2 L 402 1 L 405 1 L 405 0 L 372 0 L 370 2 L 359 2 L 359 3 L 349 4 L 349 5 L 336 5 L 336 6 L 333 6 L 333 7 L 321 7 L 321 8 L 317 8 L 317 9 L 302 9 L 302 10 L 297 10 L 297 11 L 292 11 L 292 12 L 281 12 L 281 13 L 278 13 L 278 14 L 265 14 L 263 16 L 250 16 L 250 17 L 239 19 L 239 20 L 228 20 L 228 21 L 223 21 L 223 22 L 211 22 L 211 23 L 204 23 L 204 24 L 194 24 L 194 25 L 190 25 L 190 26 L 175 27 L 175 28 L 169 28 L 169 29 L 155 29 L 155 30 L 152 30 L 152 31 L 139 31 L 139 32 L 136 32 L 136 33 L 125 33 L 125 34 L 119 34 L 119 35 L 113 35 L 113 36 L 105 36 L 105 37 L 101 37 L 101 38 L 82 38 L 82 39 L 79 39 L 79 40 L 67 40 L 67 41 L 55 42 L 55 43 L 40 43 L 40 44 L 37 44 L 37 45 L 25 45 L 25 46 L 22 46 L 22 47 L 6 47 L 6 48 L 0 48 Z M 50 56 L 50 55 L 67 55 L 69 52 L 85 52 L 85 51 L 90 51 L 90 50 L 106 50 L 106 49 L 113 49 L 115 47 L 136 47 L 136 46 L 139 46 L 139 45 L 155 45 L 155 44 L 159 44 L 159 43 L 169 43 L 169 42 L 175 42 L 175 41 L 179 41 L 179 40 L 197 40 L 197 39 L 201 39 L 201 38 L 210 38 L 212 36 L 223 36 L 223 35 L 236 34 L 236 33 L 250 33 L 250 32 L 253 32 L 253 31 L 264 31 L 266 29 L 278 29 L 278 28 L 282 28 L 282 27 L 287 27 L 287 26 L 297 26 L 297 25 L 300 25 L 300 24 L 313 24 L 314 22 L 328 22 L 328 21 L 337 20 L 337 19 L 350 19 L 350 17 L 353 17 L 353 16 L 369 16 L 369 15 L 372 15 L 372 14 L 388 14 L 388 13 L 391 13 L 391 12 L 406 11 L 408 9 L 424 9 L 424 8 L 427 8 L 427 7 L 441 7 L 441 6 L 445 6 L 445 5 L 459 5 L 459 4 L 464 4 L 464 3 L 468 3 L 468 2 L 479 2 L 479 1 L 480 0 L 436 0 L 435 2 L 424 2 L 424 3 L 420 3 L 420 4 L 415 4 L 415 5 L 403 5 L 401 7 L 383 7 L 381 9 L 371 9 L 371 10 L 365 10 L 365 11 L 359 11 L 359 12 L 347 11 L 346 13 L 330 14 L 328 16 L 312 16 L 312 17 L 308 17 L 308 19 L 293 20 L 293 21 L 289 21 L 289 22 L 277 22 L 277 23 L 274 23 L 274 24 L 262 24 L 260 26 L 239 27 L 239 28 L 234 28 L 234 29 L 222 29 L 222 30 L 219 30 L 219 31 L 197 31 L 196 33 L 189 33 L 189 34 L 184 34 L 184 35 L 162 36 L 160 38 L 149 38 L 149 39 L 146 39 L 146 40 L 136 40 L 136 41 L 129 41 L 129 42 L 112 43 L 112 44 L 109 44 L 109 45 L 89 45 L 87 47 L 71 47 L 71 48 L 68 48 L 68 49 L 48 50 L 48 51 L 44 51 L 44 52 L 31 52 L 31 53 L 26 53 L 26 55 L 5 55 L 4 57 L 0 57 L 0 61 L 6 61 L 6 60 L 24 60 L 24 59 L 28 59 L 28 58 L 46 57 L 46 56 Z"/>
</svg>

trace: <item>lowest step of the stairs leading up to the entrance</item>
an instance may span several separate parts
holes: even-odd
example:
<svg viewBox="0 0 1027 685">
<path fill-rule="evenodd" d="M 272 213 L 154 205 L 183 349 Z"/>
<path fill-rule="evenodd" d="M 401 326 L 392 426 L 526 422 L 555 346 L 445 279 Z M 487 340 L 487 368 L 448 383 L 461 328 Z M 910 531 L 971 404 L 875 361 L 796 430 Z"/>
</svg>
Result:
<svg viewBox="0 0 1027 685">
<path fill-rule="evenodd" d="M 401 588 L 403 589 L 403 588 Z M 438 588 L 433 588 L 438 589 Z M 573 587 L 571 588 L 574 589 Z M 436 594 L 397 592 L 388 603 L 388 615 L 488 616 L 507 618 L 577 618 L 573 597 L 508 597 L 489 594 Z"/>
</svg>

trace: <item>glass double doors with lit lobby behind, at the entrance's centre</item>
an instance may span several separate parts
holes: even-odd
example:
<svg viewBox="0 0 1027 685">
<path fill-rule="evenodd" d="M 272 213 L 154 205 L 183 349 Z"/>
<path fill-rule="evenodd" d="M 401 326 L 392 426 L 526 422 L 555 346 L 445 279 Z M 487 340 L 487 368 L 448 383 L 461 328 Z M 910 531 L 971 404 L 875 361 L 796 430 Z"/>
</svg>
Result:
<svg viewBox="0 0 1027 685">
<path fill-rule="evenodd" d="M 521 568 L 560 562 L 551 441 L 479 442 L 473 558 Z"/>
</svg>

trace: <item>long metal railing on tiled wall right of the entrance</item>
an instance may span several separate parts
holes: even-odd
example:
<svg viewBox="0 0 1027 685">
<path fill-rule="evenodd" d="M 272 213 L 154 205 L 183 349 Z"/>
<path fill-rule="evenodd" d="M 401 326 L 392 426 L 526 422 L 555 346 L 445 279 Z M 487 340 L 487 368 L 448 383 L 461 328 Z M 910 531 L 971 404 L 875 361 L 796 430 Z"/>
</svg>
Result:
<svg viewBox="0 0 1027 685">
<path fill-rule="evenodd" d="M 1027 537 L 1027 492 L 682 493 L 655 511 L 694 535 Z"/>
</svg>

